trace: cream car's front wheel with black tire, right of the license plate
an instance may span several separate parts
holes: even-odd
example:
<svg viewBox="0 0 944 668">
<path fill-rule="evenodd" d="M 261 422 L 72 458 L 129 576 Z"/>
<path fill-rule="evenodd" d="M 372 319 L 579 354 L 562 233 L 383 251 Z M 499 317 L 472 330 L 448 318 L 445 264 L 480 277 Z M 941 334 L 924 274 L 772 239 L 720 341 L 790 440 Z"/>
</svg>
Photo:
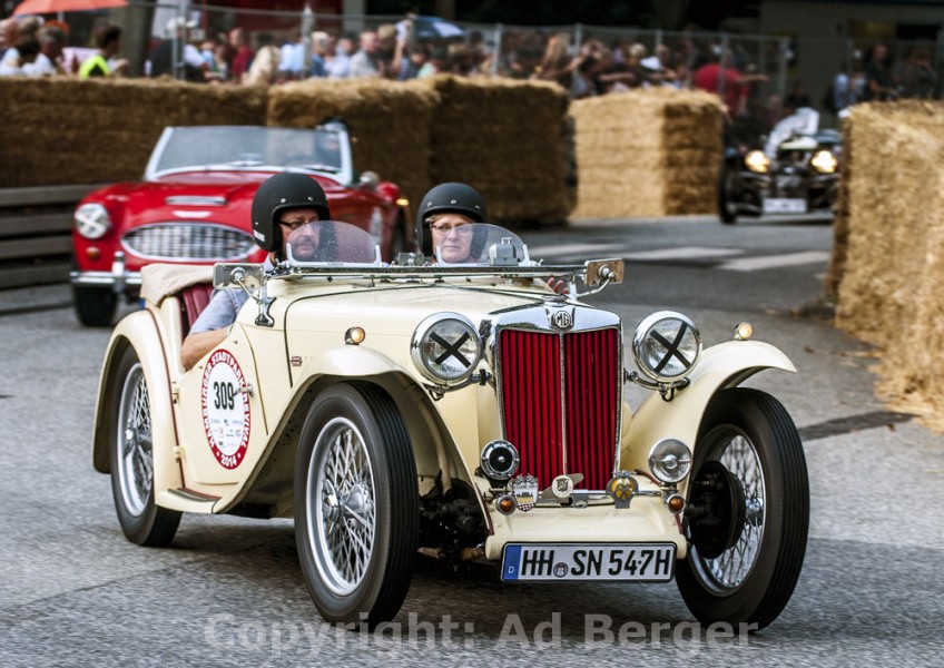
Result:
<svg viewBox="0 0 944 668">
<path fill-rule="evenodd" d="M 706 625 L 763 629 L 793 595 L 809 529 L 806 458 L 786 409 L 757 390 L 719 392 L 688 497 L 689 551 L 676 572 L 686 605 Z"/>
</svg>

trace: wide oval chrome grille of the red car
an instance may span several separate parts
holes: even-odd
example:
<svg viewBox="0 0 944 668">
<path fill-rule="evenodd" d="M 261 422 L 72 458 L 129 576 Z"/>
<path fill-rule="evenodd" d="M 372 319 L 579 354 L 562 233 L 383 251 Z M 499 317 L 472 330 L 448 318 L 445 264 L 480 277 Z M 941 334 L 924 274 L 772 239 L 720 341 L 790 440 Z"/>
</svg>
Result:
<svg viewBox="0 0 944 668">
<path fill-rule="evenodd" d="M 121 244 L 149 259 L 235 261 L 255 248 L 249 234 L 206 223 L 166 223 L 129 232 Z"/>
</svg>

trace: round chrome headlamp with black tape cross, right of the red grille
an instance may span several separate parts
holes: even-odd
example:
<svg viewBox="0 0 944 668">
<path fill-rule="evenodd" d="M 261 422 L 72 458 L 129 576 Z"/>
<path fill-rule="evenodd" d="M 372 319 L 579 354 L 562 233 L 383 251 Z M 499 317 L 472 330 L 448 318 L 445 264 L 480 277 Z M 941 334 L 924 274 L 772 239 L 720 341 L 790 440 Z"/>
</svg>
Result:
<svg viewBox="0 0 944 668">
<path fill-rule="evenodd" d="M 659 383 L 681 380 L 701 354 L 701 333 L 675 311 L 653 313 L 632 335 L 632 357 L 645 375 Z"/>
</svg>

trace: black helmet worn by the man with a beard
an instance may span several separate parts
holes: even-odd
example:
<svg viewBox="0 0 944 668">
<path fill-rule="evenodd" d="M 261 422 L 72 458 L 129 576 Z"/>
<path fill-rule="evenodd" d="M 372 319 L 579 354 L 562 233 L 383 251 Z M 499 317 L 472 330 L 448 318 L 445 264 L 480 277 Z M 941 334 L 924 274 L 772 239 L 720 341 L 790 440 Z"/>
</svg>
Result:
<svg viewBox="0 0 944 668">
<path fill-rule="evenodd" d="M 311 176 L 283 171 L 268 177 L 253 197 L 253 236 L 272 253 L 282 250 L 282 227 L 276 220 L 286 209 L 313 208 L 322 220 L 331 219 L 327 196 Z"/>
</svg>

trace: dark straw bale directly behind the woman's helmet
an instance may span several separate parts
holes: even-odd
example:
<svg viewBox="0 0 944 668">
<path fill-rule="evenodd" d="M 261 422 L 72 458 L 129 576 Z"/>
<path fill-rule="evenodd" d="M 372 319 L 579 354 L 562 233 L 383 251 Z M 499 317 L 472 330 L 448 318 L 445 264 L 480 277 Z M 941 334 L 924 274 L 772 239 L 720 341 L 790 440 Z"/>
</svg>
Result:
<svg viewBox="0 0 944 668">
<path fill-rule="evenodd" d="M 544 81 L 434 77 L 430 185 L 466 183 L 493 222 L 558 223 L 566 189 L 567 94 Z"/>
</svg>

